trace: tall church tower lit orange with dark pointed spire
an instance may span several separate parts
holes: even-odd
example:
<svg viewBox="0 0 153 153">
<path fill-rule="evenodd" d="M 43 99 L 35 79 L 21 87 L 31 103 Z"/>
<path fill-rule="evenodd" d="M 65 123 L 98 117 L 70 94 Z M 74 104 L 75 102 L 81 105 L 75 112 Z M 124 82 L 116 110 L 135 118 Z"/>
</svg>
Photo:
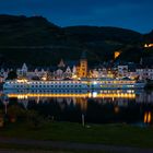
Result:
<svg viewBox="0 0 153 153">
<path fill-rule="evenodd" d="M 86 51 L 83 51 L 83 52 L 82 52 L 82 56 L 81 56 L 81 59 L 80 59 L 79 76 L 80 76 L 80 78 L 86 78 L 86 76 L 87 76 L 87 59 L 86 59 Z"/>
</svg>

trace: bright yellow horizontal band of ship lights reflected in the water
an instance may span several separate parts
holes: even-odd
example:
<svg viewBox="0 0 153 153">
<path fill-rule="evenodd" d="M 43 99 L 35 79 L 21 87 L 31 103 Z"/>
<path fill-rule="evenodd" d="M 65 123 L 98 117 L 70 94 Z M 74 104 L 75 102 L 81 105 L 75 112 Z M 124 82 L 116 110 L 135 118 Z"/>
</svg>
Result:
<svg viewBox="0 0 153 153">
<path fill-rule="evenodd" d="M 26 92 L 26 91 L 25 91 Z M 52 92 L 52 91 L 51 91 Z M 113 101 L 115 98 L 136 98 L 136 93 L 133 90 L 128 90 L 126 92 L 121 90 L 104 90 L 104 91 L 87 91 L 87 90 L 69 90 L 68 92 L 62 93 L 61 91 L 58 93 L 56 92 L 48 93 L 24 93 L 23 91 L 21 93 L 8 93 L 9 97 L 17 97 L 17 98 L 25 98 L 25 97 L 78 97 L 78 98 L 111 98 Z"/>
</svg>

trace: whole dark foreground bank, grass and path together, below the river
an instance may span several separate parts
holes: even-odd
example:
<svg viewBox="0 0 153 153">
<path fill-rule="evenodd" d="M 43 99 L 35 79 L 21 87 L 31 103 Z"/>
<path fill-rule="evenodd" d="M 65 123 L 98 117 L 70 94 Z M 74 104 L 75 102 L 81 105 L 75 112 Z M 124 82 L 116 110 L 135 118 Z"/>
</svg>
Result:
<svg viewBox="0 0 153 153">
<path fill-rule="evenodd" d="M 152 136 L 151 126 L 14 122 L 0 129 L 0 152 L 153 153 Z"/>
</svg>

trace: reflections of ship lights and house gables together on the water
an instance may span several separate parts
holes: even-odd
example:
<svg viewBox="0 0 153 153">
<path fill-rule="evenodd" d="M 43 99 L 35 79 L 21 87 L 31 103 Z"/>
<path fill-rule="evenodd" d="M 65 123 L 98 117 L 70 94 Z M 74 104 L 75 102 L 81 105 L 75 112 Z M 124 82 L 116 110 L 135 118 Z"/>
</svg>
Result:
<svg viewBox="0 0 153 153">
<path fill-rule="evenodd" d="M 37 104 L 39 102 L 47 102 L 48 99 L 56 99 L 58 104 L 66 104 L 69 106 L 73 104 L 79 105 L 81 110 L 87 109 L 87 99 L 95 99 L 98 104 L 113 103 L 114 105 L 127 107 L 132 101 L 136 103 L 153 103 L 153 92 L 145 93 L 140 91 L 136 94 L 136 91 L 128 90 L 105 90 L 105 91 L 83 91 L 83 93 L 10 93 L 8 97 L 17 97 L 19 103 L 22 103 L 27 108 L 28 101 L 33 99 Z M 62 104 L 63 107 L 63 104 Z"/>
</svg>

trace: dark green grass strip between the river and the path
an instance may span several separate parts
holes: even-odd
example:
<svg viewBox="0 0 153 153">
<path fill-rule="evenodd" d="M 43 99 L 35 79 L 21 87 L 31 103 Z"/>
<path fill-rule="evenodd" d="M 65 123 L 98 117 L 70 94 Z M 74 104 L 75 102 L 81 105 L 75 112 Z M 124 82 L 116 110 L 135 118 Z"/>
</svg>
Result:
<svg viewBox="0 0 153 153">
<path fill-rule="evenodd" d="M 152 127 L 140 128 L 128 125 L 90 125 L 89 128 L 73 122 L 47 122 L 39 129 L 31 129 L 26 123 L 9 125 L 0 136 L 9 138 L 69 141 L 153 148 Z"/>
</svg>

